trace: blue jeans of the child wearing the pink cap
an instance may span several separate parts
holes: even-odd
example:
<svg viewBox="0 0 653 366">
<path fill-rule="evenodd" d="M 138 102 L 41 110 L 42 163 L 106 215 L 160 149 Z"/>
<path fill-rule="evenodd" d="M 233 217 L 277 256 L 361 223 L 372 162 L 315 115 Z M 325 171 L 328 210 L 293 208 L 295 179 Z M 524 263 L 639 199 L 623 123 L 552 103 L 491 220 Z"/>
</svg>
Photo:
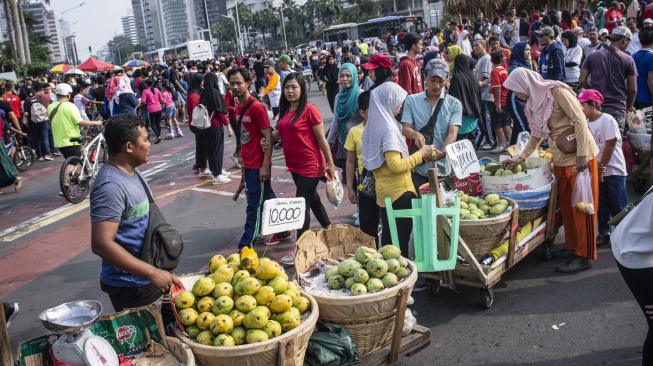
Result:
<svg viewBox="0 0 653 366">
<path fill-rule="evenodd" d="M 608 221 L 628 204 L 626 177 L 608 175 L 599 183 L 599 236 L 610 234 Z"/>
</svg>

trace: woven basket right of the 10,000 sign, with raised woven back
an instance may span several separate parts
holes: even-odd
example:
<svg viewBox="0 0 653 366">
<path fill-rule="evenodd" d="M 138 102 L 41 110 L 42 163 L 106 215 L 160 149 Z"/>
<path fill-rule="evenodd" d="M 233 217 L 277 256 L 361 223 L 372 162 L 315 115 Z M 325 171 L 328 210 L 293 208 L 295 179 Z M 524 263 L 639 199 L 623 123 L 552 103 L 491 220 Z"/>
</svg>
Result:
<svg viewBox="0 0 653 366">
<path fill-rule="evenodd" d="M 297 274 L 304 273 L 323 258 L 342 260 L 359 246 L 376 249 L 374 238 L 349 225 L 306 231 L 297 240 L 295 270 Z M 412 263 L 410 270 L 410 276 L 397 286 L 373 294 L 356 297 L 313 294 L 320 307 L 320 321 L 344 326 L 356 344 L 359 357 L 386 346 L 392 340 L 400 290 L 408 287 L 412 291 L 417 281 L 417 269 Z"/>
</svg>

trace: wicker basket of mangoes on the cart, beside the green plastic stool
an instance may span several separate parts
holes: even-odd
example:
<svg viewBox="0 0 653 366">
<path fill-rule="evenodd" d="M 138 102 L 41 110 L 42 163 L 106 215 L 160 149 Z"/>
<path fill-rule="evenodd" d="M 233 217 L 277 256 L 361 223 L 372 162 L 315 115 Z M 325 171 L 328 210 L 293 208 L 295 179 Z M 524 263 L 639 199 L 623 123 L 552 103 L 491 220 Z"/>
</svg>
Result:
<svg viewBox="0 0 653 366">
<path fill-rule="evenodd" d="M 501 197 L 508 201 L 510 207 L 516 210 L 515 201 Z M 467 247 L 475 256 L 489 253 L 504 240 L 510 229 L 512 215 L 492 217 L 482 220 L 460 220 L 460 236 L 465 240 Z"/>
</svg>

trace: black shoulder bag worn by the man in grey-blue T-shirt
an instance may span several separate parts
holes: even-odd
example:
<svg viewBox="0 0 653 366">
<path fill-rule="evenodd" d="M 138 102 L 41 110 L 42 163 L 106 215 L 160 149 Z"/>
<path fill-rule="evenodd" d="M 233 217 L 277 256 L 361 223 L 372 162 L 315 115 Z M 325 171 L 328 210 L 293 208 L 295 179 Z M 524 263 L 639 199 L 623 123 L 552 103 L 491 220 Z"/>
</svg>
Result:
<svg viewBox="0 0 653 366">
<path fill-rule="evenodd" d="M 136 173 L 136 176 L 141 181 L 147 199 L 150 201 L 147 233 L 145 234 L 141 254 L 138 257 L 143 262 L 149 263 L 156 268 L 172 271 L 179 264 L 181 252 L 184 250 L 184 241 L 177 229 L 163 217 L 163 213 L 159 206 L 154 203 L 152 192 L 150 192 L 143 178 L 138 173 Z"/>
</svg>

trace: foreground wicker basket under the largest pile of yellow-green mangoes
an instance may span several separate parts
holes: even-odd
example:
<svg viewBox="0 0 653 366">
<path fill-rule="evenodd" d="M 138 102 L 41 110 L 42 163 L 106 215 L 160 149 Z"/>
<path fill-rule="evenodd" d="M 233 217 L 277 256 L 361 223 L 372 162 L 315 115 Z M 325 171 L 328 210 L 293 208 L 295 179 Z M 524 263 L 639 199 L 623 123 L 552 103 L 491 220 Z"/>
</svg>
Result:
<svg viewBox="0 0 653 366">
<path fill-rule="evenodd" d="M 302 295 L 311 301 L 308 318 L 290 332 L 265 342 L 233 347 L 213 347 L 199 344 L 181 332 L 178 332 L 177 336 L 190 347 L 200 365 L 302 366 L 308 340 L 313 334 L 319 315 L 315 299 L 304 291 Z"/>
</svg>

